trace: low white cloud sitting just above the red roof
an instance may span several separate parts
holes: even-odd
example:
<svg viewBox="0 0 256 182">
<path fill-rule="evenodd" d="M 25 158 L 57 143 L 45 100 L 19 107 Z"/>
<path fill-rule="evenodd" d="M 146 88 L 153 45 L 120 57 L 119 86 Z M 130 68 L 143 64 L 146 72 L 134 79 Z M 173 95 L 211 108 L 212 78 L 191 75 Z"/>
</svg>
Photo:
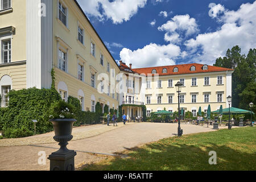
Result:
<svg viewBox="0 0 256 182">
<path fill-rule="evenodd" d="M 174 44 L 158 45 L 151 43 L 142 49 L 131 51 L 123 48 L 120 52 L 121 60 L 127 65 L 133 64 L 134 68 L 154 67 L 161 65 L 174 65 L 177 57 L 183 56 L 185 52 Z"/>
</svg>

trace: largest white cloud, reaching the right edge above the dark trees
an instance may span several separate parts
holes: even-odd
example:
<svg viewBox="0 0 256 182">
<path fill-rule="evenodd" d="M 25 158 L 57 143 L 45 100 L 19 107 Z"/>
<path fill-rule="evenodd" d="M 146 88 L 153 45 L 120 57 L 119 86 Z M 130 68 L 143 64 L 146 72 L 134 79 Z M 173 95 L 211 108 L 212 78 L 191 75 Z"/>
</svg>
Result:
<svg viewBox="0 0 256 182">
<path fill-rule="evenodd" d="M 241 53 L 256 47 L 256 1 L 241 5 L 237 11 L 225 9 L 222 13 L 216 16 L 223 23 L 217 31 L 199 34 L 185 43 L 191 55 L 201 52 L 194 57 L 195 60 L 213 64 L 217 57 L 225 56 L 226 50 L 233 46 L 239 46 Z"/>
</svg>

